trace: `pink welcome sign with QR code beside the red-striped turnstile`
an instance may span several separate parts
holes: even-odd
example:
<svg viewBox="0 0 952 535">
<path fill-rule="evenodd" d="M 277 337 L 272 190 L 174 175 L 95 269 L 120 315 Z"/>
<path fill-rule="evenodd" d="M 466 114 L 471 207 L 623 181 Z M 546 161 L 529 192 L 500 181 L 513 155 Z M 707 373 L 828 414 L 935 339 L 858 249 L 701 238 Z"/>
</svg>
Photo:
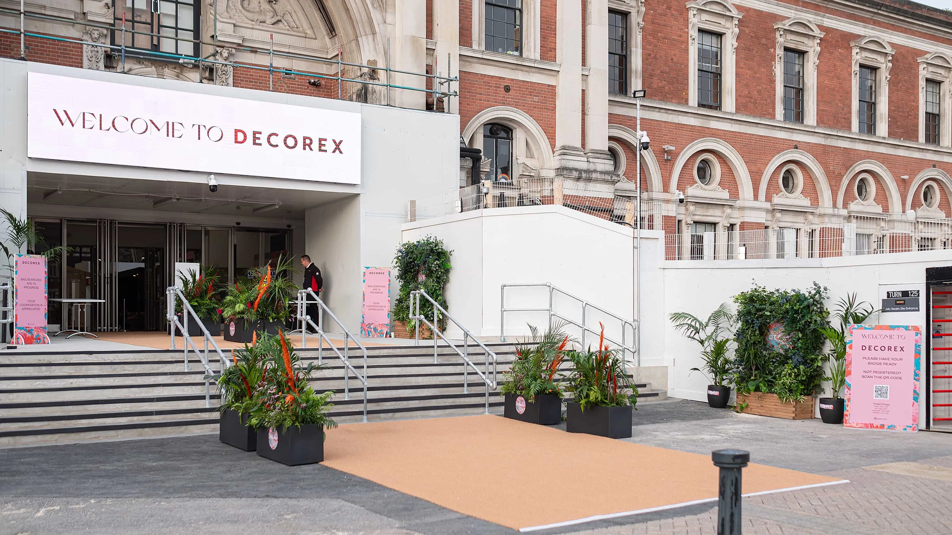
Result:
<svg viewBox="0 0 952 535">
<path fill-rule="evenodd" d="M 921 356 L 918 326 L 849 326 L 843 426 L 919 430 Z"/>
</svg>

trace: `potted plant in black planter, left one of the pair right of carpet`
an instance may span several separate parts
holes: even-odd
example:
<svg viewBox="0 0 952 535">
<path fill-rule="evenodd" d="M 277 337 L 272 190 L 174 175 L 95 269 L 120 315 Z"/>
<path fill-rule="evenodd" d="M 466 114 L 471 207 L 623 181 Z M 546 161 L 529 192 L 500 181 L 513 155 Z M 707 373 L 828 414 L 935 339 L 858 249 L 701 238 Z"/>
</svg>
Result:
<svg viewBox="0 0 952 535">
<path fill-rule="evenodd" d="M 565 358 L 568 337 L 559 328 L 541 337 L 536 327 L 526 344 L 516 347 L 516 358 L 503 373 L 500 391 L 506 397 L 506 418 L 555 426 L 562 422 L 562 390 L 555 376 Z"/>
</svg>

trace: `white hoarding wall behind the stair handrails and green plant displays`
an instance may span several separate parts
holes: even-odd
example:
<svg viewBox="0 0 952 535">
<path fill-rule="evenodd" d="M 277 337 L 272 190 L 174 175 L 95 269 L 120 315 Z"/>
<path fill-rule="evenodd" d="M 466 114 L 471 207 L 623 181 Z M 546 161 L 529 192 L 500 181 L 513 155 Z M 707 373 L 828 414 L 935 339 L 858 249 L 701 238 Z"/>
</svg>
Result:
<svg viewBox="0 0 952 535">
<path fill-rule="evenodd" d="M 403 234 L 404 241 L 432 234 L 453 249 L 446 288 L 449 312 L 484 336 L 499 335 L 503 283 L 551 282 L 593 305 L 634 317 L 632 232 L 621 225 L 567 208 L 525 207 L 408 223 Z M 826 306 L 831 310 L 852 292 L 879 308 L 887 292 L 923 292 L 925 268 L 952 265 L 952 255 L 942 250 L 804 260 L 665 261 L 662 242 L 660 232 L 643 231 L 642 366 L 667 366 L 669 395 L 696 401 L 706 400 L 708 384 L 704 375 L 690 371 L 703 364 L 700 347 L 671 327 L 669 313 L 706 318 L 722 303 L 736 309 L 733 297 L 754 284 L 807 289 L 814 281 L 829 288 Z M 547 305 L 539 292 L 506 295 L 506 308 Z M 560 309 L 558 302 L 555 308 Z M 924 298 L 919 310 L 882 312 L 872 321 L 922 326 L 923 310 Z M 545 314 L 507 313 L 506 333 L 525 334 L 526 322 L 545 325 Z"/>
</svg>

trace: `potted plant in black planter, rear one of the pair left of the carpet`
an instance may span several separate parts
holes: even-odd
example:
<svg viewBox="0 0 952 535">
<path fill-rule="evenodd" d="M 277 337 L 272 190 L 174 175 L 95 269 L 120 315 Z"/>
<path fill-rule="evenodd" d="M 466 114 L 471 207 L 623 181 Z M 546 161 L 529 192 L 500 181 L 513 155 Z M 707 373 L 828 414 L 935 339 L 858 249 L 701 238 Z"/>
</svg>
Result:
<svg viewBox="0 0 952 535">
<path fill-rule="evenodd" d="M 267 346 L 273 346 L 273 339 L 262 342 L 235 349 L 231 352 L 231 366 L 206 377 L 217 381 L 222 395 L 218 440 L 245 451 L 254 451 L 258 444 L 257 429 L 248 426 L 248 418 L 258 404 L 254 393 L 265 378 Z"/>
</svg>

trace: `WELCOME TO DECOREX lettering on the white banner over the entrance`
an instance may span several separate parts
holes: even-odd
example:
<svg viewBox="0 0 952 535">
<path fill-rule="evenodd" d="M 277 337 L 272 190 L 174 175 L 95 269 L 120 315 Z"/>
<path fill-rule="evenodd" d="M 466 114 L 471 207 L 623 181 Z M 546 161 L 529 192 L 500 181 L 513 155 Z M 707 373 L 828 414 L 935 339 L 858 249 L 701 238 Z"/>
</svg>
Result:
<svg viewBox="0 0 952 535">
<path fill-rule="evenodd" d="M 198 123 L 192 123 L 190 127 L 186 128 L 184 123 L 178 121 L 160 122 L 144 117 L 129 118 L 125 115 L 115 115 L 109 119 L 109 117 L 102 113 L 93 113 L 90 111 L 80 111 L 77 113 L 74 110 L 72 114 L 70 114 L 67 109 L 53 109 L 53 114 L 56 116 L 56 120 L 59 121 L 61 127 L 72 129 L 78 127 L 79 129 L 113 131 L 121 134 L 160 135 L 176 139 L 184 138 L 188 134 L 188 139 L 193 138 L 196 141 L 204 140 L 212 143 L 218 143 L 225 139 L 225 131 L 223 129 L 216 126 L 200 125 Z M 248 131 L 244 129 L 233 129 L 233 133 L 234 136 L 231 139 L 234 145 L 244 145 L 248 143 L 248 139 L 250 138 L 248 145 L 256 147 L 264 147 L 265 144 L 267 144 L 268 147 L 272 149 L 278 149 L 282 146 L 285 149 L 297 149 L 300 147 L 301 150 L 313 152 L 315 151 L 314 146 L 316 145 L 317 152 L 344 154 L 342 147 L 344 145 L 343 139 L 337 140 L 319 137 L 316 138 L 315 143 L 315 138 L 312 136 L 301 134 L 287 133 L 282 135 L 278 132 L 268 132 L 266 134 L 264 130 L 250 130 L 250 134 L 248 134 Z M 331 144 L 333 145 L 332 149 L 330 148 Z"/>
</svg>

